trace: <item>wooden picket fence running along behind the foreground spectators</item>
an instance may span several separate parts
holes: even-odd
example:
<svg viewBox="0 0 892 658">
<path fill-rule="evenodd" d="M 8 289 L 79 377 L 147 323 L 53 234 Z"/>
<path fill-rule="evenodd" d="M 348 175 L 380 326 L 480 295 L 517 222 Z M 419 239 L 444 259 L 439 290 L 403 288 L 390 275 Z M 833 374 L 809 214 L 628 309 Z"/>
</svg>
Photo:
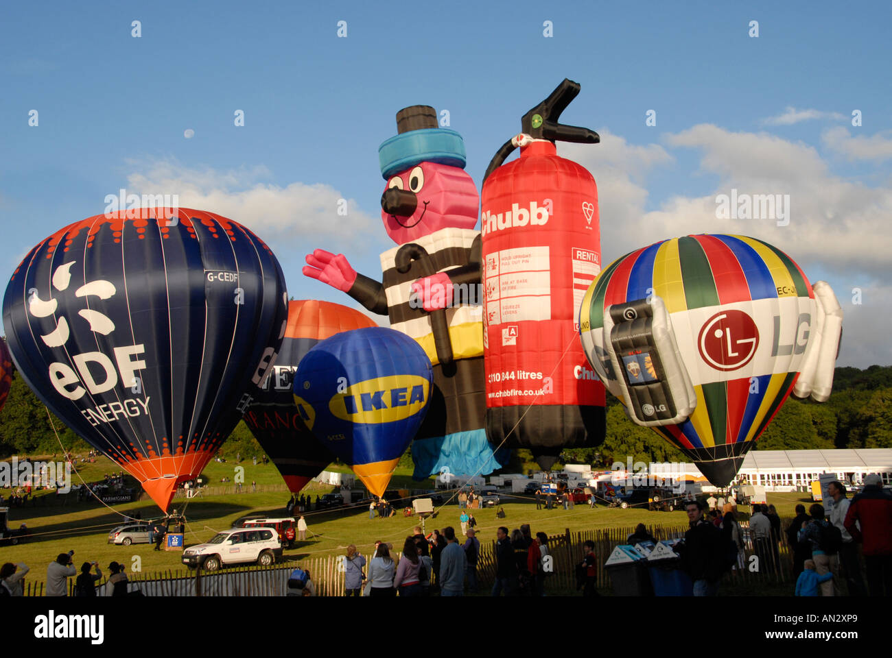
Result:
<svg viewBox="0 0 892 658">
<path fill-rule="evenodd" d="M 769 544 L 764 550 L 756 547 L 749 537 L 748 522 L 741 522 L 746 541 L 746 555 L 743 568 L 728 572 L 724 576 L 723 588 L 733 593 L 735 589 L 754 589 L 764 585 L 792 585 L 792 550 L 787 544 L 786 529 L 791 519 L 781 521 L 780 541 L 774 552 Z M 686 524 L 673 526 L 652 526 L 648 531 L 656 539 L 676 539 L 688 530 Z M 583 543 L 591 540 L 595 544 L 598 560 L 597 586 L 610 588 L 610 576 L 605 562 L 614 548 L 624 544 L 634 527 L 607 528 L 590 531 L 566 531 L 549 536 L 549 555 L 552 557 L 553 571 L 545 581 L 547 592 L 572 594 L 576 591 L 575 566 L 582 561 Z M 758 568 L 754 569 L 752 556 L 758 558 Z M 399 559 L 399 554 L 394 555 Z M 370 559 L 369 556 L 366 558 Z M 129 588 L 139 589 L 146 596 L 282 596 L 288 574 L 300 567 L 310 572 L 318 596 L 343 596 L 343 555 L 323 555 L 297 561 L 275 564 L 270 567 L 244 566 L 227 567 L 219 572 L 167 571 L 152 573 L 128 573 Z M 491 588 L 496 575 L 495 541 L 481 542 L 477 562 L 477 580 L 480 591 Z M 368 569 L 368 567 L 367 567 Z M 105 583 L 97 589 L 100 596 L 107 596 Z M 44 582 L 26 582 L 25 596 L 44 596 Z M 73 596 L 74 579 L 70 579 L 69 594 Z"/>
</svg>

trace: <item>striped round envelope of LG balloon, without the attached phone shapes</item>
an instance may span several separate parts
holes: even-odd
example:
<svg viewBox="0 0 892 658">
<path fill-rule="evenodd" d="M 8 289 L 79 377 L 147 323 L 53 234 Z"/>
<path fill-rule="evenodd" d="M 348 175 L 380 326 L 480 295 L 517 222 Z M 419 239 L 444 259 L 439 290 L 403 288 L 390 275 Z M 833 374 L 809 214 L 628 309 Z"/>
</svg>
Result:
<svg viewBox="0 0 892 658">
<path fill-rule="evenodd" d="M 651 295 L 665 303 L 697 395 L 687 421 L 653 429 L 724 486 L 797 381 L 816 312 L 812 286 L 785 253 L 741 235 L 688 235 L 615 260 L 582 299 L 580 327 L 591 365 L 620 399 L 605 313 Z"/>
</svg>

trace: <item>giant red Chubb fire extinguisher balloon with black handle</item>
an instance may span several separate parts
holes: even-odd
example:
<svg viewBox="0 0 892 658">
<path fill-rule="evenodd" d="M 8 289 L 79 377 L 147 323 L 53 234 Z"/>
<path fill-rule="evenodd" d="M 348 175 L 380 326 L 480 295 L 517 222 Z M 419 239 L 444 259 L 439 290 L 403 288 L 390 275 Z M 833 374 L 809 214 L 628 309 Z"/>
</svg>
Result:
<svg viewBox="0 0 892 658">
<path fill-rule="evenodd" d="M 555 147 L 599 142 L 588 128 L 558 123 L 579 89 L 565 79 L 527 112 L 483 182 L 487 432 L 495 444 L 531 448 L 543 468 L 605 432 L 604 387 L 576 326 L 600 271 L 598 188 Z M 517 147 L 520 157 L 501 164 Z"/>
</svg>

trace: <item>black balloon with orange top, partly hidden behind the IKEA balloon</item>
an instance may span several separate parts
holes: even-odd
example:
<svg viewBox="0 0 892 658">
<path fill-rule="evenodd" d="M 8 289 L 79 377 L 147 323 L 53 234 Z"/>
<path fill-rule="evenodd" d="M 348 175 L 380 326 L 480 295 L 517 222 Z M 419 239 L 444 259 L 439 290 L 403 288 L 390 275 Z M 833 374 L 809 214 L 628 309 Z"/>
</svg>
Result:
<svg viewBox="0 0 892 658">
<path fill-rule="evenodd" d="M 297 366 L 310 349 L 335 333 L 377 326 L 358 310 L 330 301 L 288 302 L 285 340 L 276 365 L 260 383 L 244 413 L 260 448 L 267 453 L 288 489 L 297 493 L 335 461 L 335 455 L 307 429 L 294 405 L 293 379 Z"/>
</svg>

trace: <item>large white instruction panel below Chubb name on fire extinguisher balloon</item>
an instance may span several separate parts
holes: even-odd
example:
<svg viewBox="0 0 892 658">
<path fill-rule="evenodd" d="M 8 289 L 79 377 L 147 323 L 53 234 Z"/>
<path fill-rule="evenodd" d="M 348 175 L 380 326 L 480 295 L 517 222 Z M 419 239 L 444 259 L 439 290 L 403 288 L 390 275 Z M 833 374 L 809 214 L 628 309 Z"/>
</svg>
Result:
<svg viewBox="0 0 892 658">
<path fill-rule="evenodd" d="M 550 320 L 550 268 L 547 246 L 503 249 L 487 254 L 487 325 L 522 320 Z"/>
</svg>

